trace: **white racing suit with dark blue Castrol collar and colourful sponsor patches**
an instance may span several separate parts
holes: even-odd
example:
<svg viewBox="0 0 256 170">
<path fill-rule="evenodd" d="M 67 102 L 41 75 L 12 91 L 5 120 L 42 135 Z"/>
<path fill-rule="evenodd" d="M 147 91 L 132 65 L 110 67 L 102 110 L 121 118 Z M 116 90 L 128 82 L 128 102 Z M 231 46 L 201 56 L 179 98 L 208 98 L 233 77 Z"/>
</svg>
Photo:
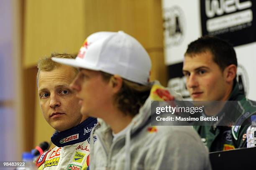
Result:
<svg viewBox="0 0 256 170">
<path fill-rule="evenodd" d="M 90 132 L 96 124 L 97 119 L 89 117 L 76 127 L 53 134 L 51 141 L 56 147 L 38 157 L 38 170 L 86 170 L 92 141 Z"/>
</svg>

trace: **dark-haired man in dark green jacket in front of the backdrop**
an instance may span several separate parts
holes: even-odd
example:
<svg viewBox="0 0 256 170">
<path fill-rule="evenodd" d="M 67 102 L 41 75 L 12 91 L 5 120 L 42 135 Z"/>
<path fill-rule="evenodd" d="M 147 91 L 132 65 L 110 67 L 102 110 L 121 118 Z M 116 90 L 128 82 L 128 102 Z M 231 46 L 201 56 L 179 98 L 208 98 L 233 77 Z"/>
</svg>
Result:
<svg viewBox="0 0 256 170">
<path fill-rule="evenodd" d="M 256 113 L 256 104 L 246 99 L 239 88 L 236 71 L 236 52 L 228 42 L 205 36 L 188 45 L 183 74 L 191 98 L 194 101 L 238 101 L 236 108 L 226 109 L 236 117 L 233 126 L 195 126 L 210 152 L 246 146 L 248 120 Z"/>
</svg>

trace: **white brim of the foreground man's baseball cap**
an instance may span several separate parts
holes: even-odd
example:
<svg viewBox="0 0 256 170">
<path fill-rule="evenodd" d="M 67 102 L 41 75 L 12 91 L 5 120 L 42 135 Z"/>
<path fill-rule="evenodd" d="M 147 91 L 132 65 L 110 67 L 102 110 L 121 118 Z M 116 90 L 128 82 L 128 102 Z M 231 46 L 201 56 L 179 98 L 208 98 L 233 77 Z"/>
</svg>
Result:
<svg viewBox="0 0 256 170">
<path fill-rule="evenodd" d="M 89 64 L 85 63 L 82 59 L 80 59 L 80 60 L 79 59 L 57 58 L 57 57 L 52 57 L 51 58 L 52 61 L 55 61 L 56 63 L 64 64 L 64 65 L 67 65 L 67 66 L 100 71 L 99 69 L 96 69 L 95 66 L 90 66 Z"/>
</svg>

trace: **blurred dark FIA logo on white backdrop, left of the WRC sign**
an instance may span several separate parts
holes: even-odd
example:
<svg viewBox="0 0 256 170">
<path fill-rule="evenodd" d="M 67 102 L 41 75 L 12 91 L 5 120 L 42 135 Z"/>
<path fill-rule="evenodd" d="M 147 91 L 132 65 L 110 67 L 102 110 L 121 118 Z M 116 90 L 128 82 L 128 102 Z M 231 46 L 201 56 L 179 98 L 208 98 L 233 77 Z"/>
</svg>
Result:
<svg viewBox="0 0 256 170">
<path fill-rule="evenodd" d="M 177 46 L 185 35 L 185 18 L 182 8 L 164 8 L 164 41 L 166 46 Z"/>
</svg>

